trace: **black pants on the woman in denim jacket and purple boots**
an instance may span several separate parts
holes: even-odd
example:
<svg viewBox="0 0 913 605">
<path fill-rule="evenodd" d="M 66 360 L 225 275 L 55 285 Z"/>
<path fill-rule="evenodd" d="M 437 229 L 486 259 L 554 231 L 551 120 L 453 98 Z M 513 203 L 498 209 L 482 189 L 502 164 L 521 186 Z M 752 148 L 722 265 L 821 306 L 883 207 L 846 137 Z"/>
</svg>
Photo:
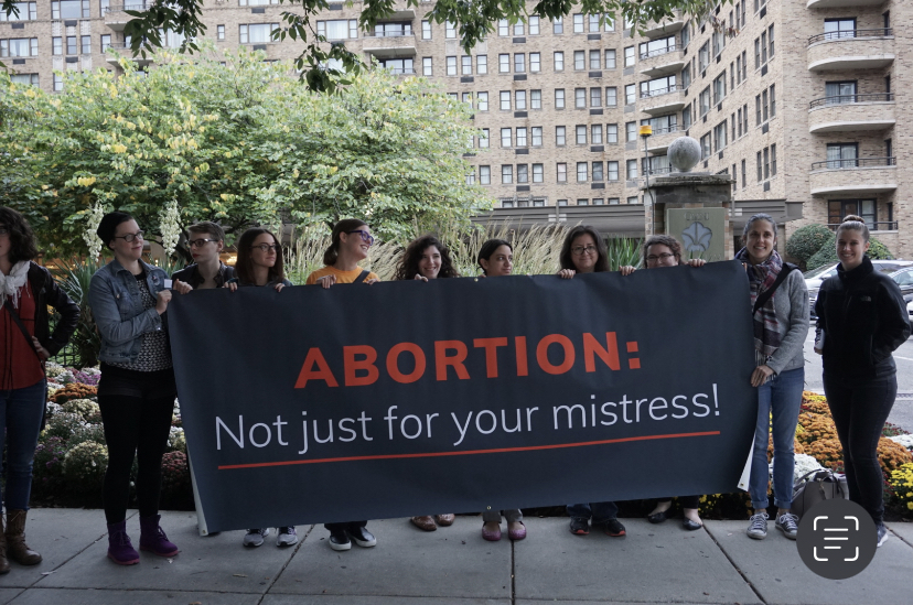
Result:
<svg viewBox="0 0 913 605">
<path fill-rule="evenodd" d="M 149 372 L 157 374 L 160 372 Z M 162 487 L 162 456 L 168 446 L 171 417 L 174 408 L 173 375 L 171 386 L 154 380 L 143 385 L 142 396 L 120 395 L 125 389 L 112 388 L 115 380 L 99 386 L 98 407 L 105 424 L 105 441 L 108 444 L 108 469 L 105 473 L 103 491 L 105 518 L 108 523 L 118 523 L 127 518 L 127 501 L 130 497 L 130 469 L 137 455 L 137 500 L 140 517 L 159 512 L 159 495 Z M 141 380 L 152 382 L 153 380 Z M 117 377 L 117 382 L 121 382 Z M 136 383 L 133 385 L 136 387 Z M 106 389 L 105 387 L 108 387 Z M 106 395 L 106 390 L 109 391 Z M 110 393 L 114 391 L 118 395 Z"/>
</svg>

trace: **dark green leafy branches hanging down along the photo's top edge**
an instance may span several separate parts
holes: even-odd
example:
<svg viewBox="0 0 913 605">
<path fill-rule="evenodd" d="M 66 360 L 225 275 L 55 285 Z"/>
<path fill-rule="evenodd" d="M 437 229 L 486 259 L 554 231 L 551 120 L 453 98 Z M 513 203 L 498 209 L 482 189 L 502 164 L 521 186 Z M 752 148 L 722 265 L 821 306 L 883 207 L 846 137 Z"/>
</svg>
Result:
<svg viewBox="0 0 913 605">
<path fill-rule="evenodd" d="M 2 0 L 0 10 L 11 14 L 18 0 Z M 408 7 L 419 8 L 422 0 L 407 0 Z M 726 0 L 732 3 L 732 0 Z M 287 37 L 300 41 L 304 50 L 296 61 L 301 77 L 314 90 L 333 90 L 340 83 L 337 77 L 342 73 L 325 65 L 329 60 L 340 61 L 344 72 L 356 75 L 366 66 L 361 58 L 346 50 L 343 43 L 333 43 L 326 47 L 321 43 L 327 42 L 324 36 L 318 35 L 315 17 L 319 12 L 329 9 L 327 0 L 279 0 L 288 4 L 288 11 L 281 13 L 282 26 L 272 32 L 273 40 L 284 41 Z M 352 0 L 346 0 L 352 4 Z M 438 0 L 429 13 L 429 19 L 436 23 L 449 21 L 455 23 L 460 32 L 460 41 L 466 53 L 487 34 L 494 33 L 498 20 L 507 19 L 511 23 L 526 20 L 530 14 L 545 19 L 565 17 L 574 12 L 600 14 L 613 20 L 624 20 L 634 29 L 643 29 L 649 22 L 659 22 L 670 17 L 675 11 L 683 11 L 697 15 L 699 20 L 708 20 L 715 28 L 724 29 L 715 18 L 710 17 L 716 0 L 539 0 L 529 10 L 525 0 Z M 358 25 L 366 31 L 373 30 L 377 21 L 393 14 L 395 0 L 364 0 Z M 17 11 L 18 12 L 18 11 Z M 133 54 L 151 53 L 162 46 L 160 31 L 183 34 L 187 42 L 182 50 L 196 51 L 198 46 L 194 40 L 202 39 L 206 26 L 201 21 L 203 0 L 153 0 L 146 10 L 126 11 L 136 19 L 129 21 L 123 34 L 131 36 Z M 343 80 L 346 83 L 346 80 Z"/>
</svg>

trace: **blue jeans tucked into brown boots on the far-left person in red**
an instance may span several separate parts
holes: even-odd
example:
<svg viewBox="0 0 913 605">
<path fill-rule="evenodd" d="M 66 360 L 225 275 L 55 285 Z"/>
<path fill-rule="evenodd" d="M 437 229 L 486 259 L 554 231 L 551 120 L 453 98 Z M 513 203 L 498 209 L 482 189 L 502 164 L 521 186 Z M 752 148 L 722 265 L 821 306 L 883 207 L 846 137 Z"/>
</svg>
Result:
<svg viewBox="0 0 913 605">
<path fill-rule="evenodd" d="M 8 447 L 3 494 L 7 510 L 29 510 L 32 461 L 44 418 L 46 392 L 44 380 L 23 389 L 0 391 L 0 452 Z"/>
</svg>

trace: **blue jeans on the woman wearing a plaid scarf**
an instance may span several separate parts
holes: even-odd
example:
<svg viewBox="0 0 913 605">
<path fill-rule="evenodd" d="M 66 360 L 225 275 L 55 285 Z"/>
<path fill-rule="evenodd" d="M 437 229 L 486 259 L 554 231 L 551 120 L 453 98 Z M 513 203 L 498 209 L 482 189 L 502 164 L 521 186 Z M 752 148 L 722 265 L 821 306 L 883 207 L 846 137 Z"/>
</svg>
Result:
<svg viewBox="0 0 913 605">
<path fill-rule="evenodd" d="M 754 510 L 764 510 L 770 506 L 769 428 L 773 430 L 774 442 L 774 504 L 777 508 L 793 506 L 793 472 L 796 462 L 793 443 L 804 387 L 805 368 L 781 372 L 758 387 L 758 424 L 754 429 L 754 455 L 749 480 L 751 506 Z"/>
</svg>

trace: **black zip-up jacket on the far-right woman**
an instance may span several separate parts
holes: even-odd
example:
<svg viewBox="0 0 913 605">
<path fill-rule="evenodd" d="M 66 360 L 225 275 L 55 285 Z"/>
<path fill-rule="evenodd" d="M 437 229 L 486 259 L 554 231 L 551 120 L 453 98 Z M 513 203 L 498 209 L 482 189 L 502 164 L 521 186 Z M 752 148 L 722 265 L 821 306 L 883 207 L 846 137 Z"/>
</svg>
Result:
<svg viewBox="0 0 913 605">
<path fill-rule="evenodd" d="M 815 312 L 825 335 L 825 375 L 872 379 L 896 372 L 891 354 L 910 337 L 906 303 L 869 257 L 850 271 L 838 267 L 837 276 L 825 280 Z"/>
</svg>

